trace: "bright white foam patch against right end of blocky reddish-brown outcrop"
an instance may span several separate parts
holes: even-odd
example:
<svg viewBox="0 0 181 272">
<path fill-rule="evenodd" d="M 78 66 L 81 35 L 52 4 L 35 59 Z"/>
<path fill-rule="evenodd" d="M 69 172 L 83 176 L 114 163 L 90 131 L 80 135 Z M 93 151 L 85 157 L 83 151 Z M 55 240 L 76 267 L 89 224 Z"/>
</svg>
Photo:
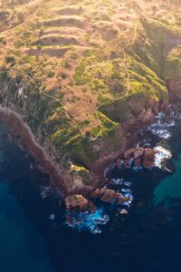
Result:
<svg viewBox="0 0 181 272">
<path fill-rule="evenodd" d="M 154 151 L 157 151 L 155 166 L 161 169 L 163 162 L 172 158 L 172 153 L 162 146 L 157 146 Z"/>
</svg>

